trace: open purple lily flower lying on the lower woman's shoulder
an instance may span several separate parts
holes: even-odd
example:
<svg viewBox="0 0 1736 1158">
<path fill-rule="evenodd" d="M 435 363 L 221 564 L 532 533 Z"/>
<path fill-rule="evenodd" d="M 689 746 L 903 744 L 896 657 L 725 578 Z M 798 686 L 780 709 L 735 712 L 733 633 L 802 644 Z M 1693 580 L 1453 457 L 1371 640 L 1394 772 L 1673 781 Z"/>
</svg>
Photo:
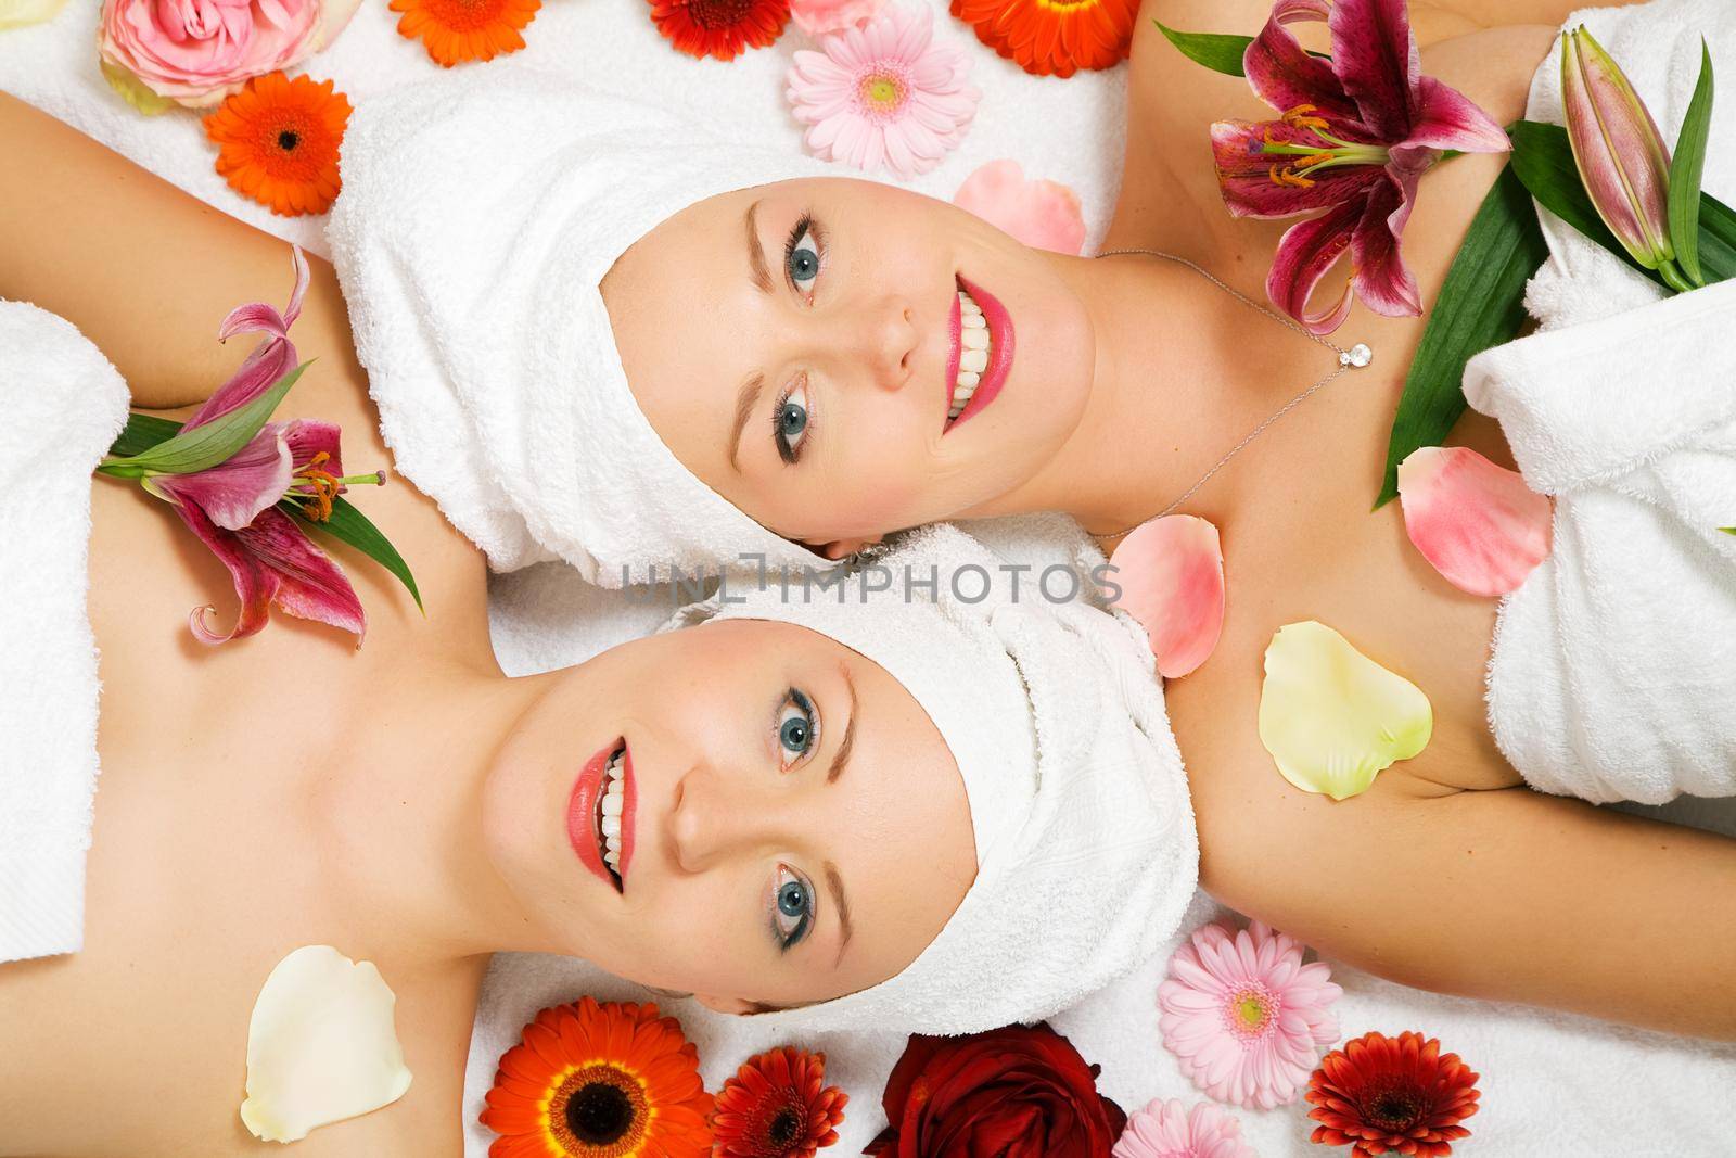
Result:
<svg viewBox="0 0 1736 1158">
<path fill-rule="evenodd" d="M 278 314 L 253 302 L 224 319 L 224 339 L 257 332 L 267 337 L 182 429 L 245 406 L 297 365 L 288 330 L 300 314 L 306 290 L 307 260 L 297 248 L 288 309 Z M 278 503 L 300 503 L 307 517 L 319 521 L 330 517 L 332 500 L 345 484 L 380 481 L 380 474 L 344 477 L 339 427 L 306 418 L 267 422 L 247 446 L 215 467 L 146 477 L 146 490 L 174 503 L 181 519 L 229 568 L 241 599 L 241 613 L 227 634 L 207 627 L 210 606 L 194 608 L 187 616 L 193 635 L 207 644 L 252 635 L 266 627 L 276 602 L 290 615 L 352 632 L 359 648 L 366 632 L 361 599 L 339 566 Z"/>
</svg>

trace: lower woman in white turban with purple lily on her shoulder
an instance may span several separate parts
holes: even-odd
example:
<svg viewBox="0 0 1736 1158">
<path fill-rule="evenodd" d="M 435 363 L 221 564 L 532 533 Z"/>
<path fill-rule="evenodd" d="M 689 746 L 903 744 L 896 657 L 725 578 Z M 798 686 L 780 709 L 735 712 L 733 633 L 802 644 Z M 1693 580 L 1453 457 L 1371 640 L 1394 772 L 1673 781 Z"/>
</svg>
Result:
<svg viewBox="0 0 1736 1158">
<path fill-rule="evenodd" d="M 304 943 L 380 969 L 415 1071 L 309 1153 L 432 1155 L 458 1148 L 495 950 L 792 1031 L 965 1033 L 1095 991 L 1193 898 L 1180 753 L 1125 615 L 773 583 L 524 679 L 477 632 L 389 615 L 354 656 L 288 623 L 189 653 L 161 609 L 208 561 L 132 488 L 90 486 L 122 378 L 33 306 L 0 302 L 0 398 L 28 405 L 0 441 L 24 543 L 0 627 L 52 693 L 0 707 L 0 962 L 45 958 L 0 967 L 0 1155 L 233 1153 L 248 1010 Z M 354 392 L 307 377 L 321 413 Z M 434 615 L 484 622 L 479 552 L 401 490 L 387 524 Z M 884 563 L 924 582 L 998 556 L 939 526 Z"/>
</svg>

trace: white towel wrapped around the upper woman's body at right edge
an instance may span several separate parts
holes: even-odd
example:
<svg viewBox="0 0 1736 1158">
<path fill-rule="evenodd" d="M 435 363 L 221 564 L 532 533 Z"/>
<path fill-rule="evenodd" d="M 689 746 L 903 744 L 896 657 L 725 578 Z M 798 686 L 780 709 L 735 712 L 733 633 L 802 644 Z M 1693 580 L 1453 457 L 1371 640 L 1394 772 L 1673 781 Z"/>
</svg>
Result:
<svg viewBox="0 0 1736 1158">
<path fill-rule="evenodd" d="M 1736 5 L 1576 12 L 1675 141 L 1705 35 L 1736 71 Z M 1705 189 L 1736 203 L 1736 111 L 1720 94 Z M 1528 115 L 1562 122 L 1561 47 Z M 1500 420 L 1554 549 L 1502 601 L 1488 670 L 1502 753 L 1542 792 L 1661 804 L 1736 793 L 1736 281 L 1665 297 L 1540 210 L 1543 328 L 1474 358 L 1465 398 Z"/>
</svg>

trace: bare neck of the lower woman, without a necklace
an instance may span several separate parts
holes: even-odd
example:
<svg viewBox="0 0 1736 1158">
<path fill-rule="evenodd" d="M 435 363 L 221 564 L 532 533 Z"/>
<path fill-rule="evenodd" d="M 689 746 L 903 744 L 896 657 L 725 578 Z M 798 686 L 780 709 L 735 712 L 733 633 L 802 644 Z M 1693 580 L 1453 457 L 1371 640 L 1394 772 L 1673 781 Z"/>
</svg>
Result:
<svg viewBox="0 0 1736 1158">
<path fill-rule="evenodd" d="M 483 783 L 547 679 L 436 663 L 370 696 L 312 790 L 309 854 L 340 929 L 427 965 L 526 946 L 483 845 Z"/>
</svg>

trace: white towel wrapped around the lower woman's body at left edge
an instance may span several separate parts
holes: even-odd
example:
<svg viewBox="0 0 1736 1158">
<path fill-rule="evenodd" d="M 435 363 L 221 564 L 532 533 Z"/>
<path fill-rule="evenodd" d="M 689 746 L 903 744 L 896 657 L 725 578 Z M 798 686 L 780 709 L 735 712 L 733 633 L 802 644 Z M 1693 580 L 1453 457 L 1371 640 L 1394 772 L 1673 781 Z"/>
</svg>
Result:
<svg viewBox="0 0 1736 1158">
<path fill-rule="evenodd" d="M 0 302 L 0 962 L 85 943 L 97 653 L 90 472 L 127 384 L 73 325 Z"/>
</svg>

